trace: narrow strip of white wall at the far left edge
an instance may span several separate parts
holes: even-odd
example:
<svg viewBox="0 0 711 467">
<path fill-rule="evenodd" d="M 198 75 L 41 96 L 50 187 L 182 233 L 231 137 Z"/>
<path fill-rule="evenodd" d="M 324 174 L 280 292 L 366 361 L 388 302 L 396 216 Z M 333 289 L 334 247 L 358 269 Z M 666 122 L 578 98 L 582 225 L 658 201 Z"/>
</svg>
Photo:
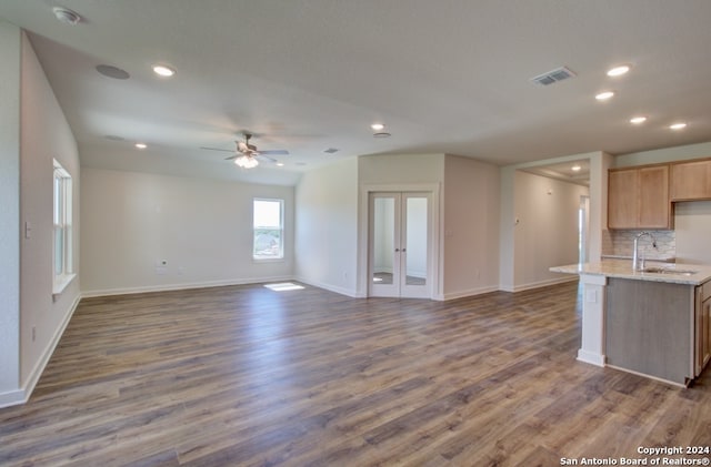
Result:
<svg viewBox="0 0 711 467">
<path fill-rule="evenodd" d="M 20 30 L 0 20 L 0 407 L 20 394 Z"/>
</svg>

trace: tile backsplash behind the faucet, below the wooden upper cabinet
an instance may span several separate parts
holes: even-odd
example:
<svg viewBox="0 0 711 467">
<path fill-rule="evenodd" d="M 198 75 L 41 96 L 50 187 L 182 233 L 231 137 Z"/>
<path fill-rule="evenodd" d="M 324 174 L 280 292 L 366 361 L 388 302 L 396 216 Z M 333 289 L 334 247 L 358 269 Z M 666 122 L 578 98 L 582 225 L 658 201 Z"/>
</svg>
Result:
<svg viewBox="0 0 711 467">
<path fill-rule="evenodd" d="M 602 231 L 602 254 L 632 256 L 634 237 L 644 231 Z M 639 241 L 640 255 L 648 260 L 670 260 L 677 255 L 677 236 L 674 231 L 650 231 L 657 240 L 657 250 L 649 237 Z"/>
</svg>

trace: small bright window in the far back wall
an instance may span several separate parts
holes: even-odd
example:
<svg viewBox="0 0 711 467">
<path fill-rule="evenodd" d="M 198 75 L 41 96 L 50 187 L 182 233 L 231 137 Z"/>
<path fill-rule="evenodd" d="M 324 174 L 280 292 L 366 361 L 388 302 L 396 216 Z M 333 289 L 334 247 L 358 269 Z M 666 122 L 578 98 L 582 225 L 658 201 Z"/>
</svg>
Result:
<svg viewBox="0 0 711 467">
<path fill-rule="evenodd" d="M 254 260 L 284 257 L 284 201 L 254 199 Z"/>
</svg>

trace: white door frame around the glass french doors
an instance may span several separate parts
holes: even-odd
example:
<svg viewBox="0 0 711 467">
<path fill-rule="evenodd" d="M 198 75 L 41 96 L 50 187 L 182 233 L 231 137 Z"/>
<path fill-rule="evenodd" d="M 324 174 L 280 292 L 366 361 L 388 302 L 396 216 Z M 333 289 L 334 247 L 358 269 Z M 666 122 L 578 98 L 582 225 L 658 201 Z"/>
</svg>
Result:
<svg viewBox="0 0 711 467">
<path fill-rule="evenodd" d="M 440 244 L 440 183 L 399 183 L 399 184 L 361 184 L 359 196 L 359 227 L 358 227 L 358 282 L 357 296 L 368 297 L 370 281 L 370 194 L 374 192 L 422 192 L 430 194 L 430 230 L 431 247 L 428 257 L 428 297 L 443 301 L 444 295 L 440 283 L 441 250 Z"/>
</svg>

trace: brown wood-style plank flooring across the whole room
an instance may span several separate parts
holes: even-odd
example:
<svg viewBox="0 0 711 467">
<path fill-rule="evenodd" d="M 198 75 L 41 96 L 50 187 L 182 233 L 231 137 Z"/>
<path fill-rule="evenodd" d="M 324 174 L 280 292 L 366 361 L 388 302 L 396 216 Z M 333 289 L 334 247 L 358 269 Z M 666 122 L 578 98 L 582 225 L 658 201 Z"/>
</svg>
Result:
<svg viewBox="0 0 711 467">
<path fill-rule="evenodd" d="M 0 465 L 558 466 L 711 446 L 711 372 L 681 389 L 577 362 L 579 295 L 83 300 L 30 402 L 0 409 Z"/>
</svg>

